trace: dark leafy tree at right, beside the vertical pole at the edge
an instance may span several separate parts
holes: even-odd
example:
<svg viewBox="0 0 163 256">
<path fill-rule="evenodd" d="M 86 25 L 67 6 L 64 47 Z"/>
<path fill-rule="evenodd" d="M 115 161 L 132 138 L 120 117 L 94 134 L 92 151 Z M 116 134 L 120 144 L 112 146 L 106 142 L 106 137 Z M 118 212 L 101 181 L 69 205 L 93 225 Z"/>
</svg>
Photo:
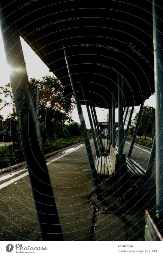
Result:
<svg viewBox="0 0 163 256">
<path fill-rule="evenodd" d="M 136 113 L 136 116 L 134 118 L 135 123 L 137 121 L 137 116 L 138 116 L 138 113 Z M 145 140 L 146 140 L 146 136 L 152 137 L 153 139 L 154 133 L 152 131 L 154 128 L 155 128 L 155 109 L 151 106 L 145 106 L 143 107 L 141 122 L 137 130 L 137 135 L 140 137 L 144 135 Z"/>
</svg>

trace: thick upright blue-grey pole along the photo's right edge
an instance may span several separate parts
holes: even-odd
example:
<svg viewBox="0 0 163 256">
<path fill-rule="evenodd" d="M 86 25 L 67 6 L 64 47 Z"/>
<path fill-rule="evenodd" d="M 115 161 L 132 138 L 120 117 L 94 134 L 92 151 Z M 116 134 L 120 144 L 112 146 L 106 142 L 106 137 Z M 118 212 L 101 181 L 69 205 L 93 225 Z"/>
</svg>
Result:
<svg viewBox="0 0 163 256">
<path fill-rule="evenodd" d="M 158 218 L 163 218 L 163 27 L 162 27 L 162 1 L 153 0 L 153 48 L 155 70 L 155 123 L 156 126 L 156 213 Z M 161 150 L 161 152 L 160 152 Z"/>
</svg>

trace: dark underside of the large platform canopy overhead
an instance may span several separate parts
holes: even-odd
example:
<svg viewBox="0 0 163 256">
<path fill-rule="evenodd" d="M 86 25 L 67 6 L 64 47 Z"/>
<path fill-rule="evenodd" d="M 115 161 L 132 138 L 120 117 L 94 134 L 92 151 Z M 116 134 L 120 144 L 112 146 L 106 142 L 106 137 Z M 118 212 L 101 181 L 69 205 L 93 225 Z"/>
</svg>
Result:
<svg viewBox="0 0 163 256">
<path fill-rule="evenodd" d="M 152 1 L 8 2 L 8 25 L 17 27 L 67 93 L 72 89 L 62 42 L 81 100 L 80 80 L 97 107 L 108 108 L 114 87 L 117 107 L 118 75 L 124 107 L 140 105 L 154 93 Z"/>
</svg>

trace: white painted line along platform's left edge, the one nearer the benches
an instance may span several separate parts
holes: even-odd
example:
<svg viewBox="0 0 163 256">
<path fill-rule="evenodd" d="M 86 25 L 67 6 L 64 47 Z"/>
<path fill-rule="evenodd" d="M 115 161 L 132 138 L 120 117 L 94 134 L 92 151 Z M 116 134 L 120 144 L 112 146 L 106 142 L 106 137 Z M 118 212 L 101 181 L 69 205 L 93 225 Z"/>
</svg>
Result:
<svg viewBox="0 0 163 256">
<path fill-rule="evenodd" d="M 91 140 L 91 141 L 92 141 L 92 140 Z M 90 141 L 90 142 L 91 142 L 91 141 Z M 70 148 L 70 151 L 69 151 L 69 152 L 64 153 L 63 155 L 54 158 L 53 160 L 49 161 L 49 162 L 47 163 L 47 165 L 50 164 L 50 163 L 53 163 L 53 162 L 57 161 L 58 159 L 62 158 L 63 156 L 66 156 L 66 155 L 68 155 L 69 153 L 75 151 L 76 148 L 79 149 L 80 147 L 83 147 L 84 145 L 85 145 L 85 144 L 82 144 L 82 145 L 80 145 L 79 147 L 75 147 L 75 148 L 72 149 L 72 150 L 71 150 L 71 148 Z M 68 149 L 68 150 L 69 150 L 69 149 Z M 22 171 L 26 171 L 26 170 L 28 170 L 28 169 L 24 169 L 24 170 L 22 170 Z M 21 172 L 22 172 L 22 171 L 21 171 Z M 11 180 L 9 180 L 9 181 L 7 181 L 7 182 L 5 182 L 5 183 L 2 183 L 2 184 L 0 185 L 0 189 L 7 187 L 8 185 L 14 183 L 15 181 L 17 181 L 17 180 L 19 180 L 19 179 L 22 179 L 23 177 L 27 176 L 28 174 L 29 174 L 29 172 L 25 172 L 25 173 L 19 175 L 18 177 L 14 178 L 14 179 L 11 179 Z"/>
</svg>

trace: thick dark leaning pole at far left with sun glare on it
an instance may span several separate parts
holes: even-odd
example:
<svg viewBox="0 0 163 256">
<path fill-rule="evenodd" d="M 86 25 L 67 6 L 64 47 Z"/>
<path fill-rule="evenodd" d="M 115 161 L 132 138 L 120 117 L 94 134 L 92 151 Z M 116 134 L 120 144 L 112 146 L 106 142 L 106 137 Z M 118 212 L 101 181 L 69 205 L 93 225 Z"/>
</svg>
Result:
<svg viewBox="0 0 163 256">
<path fill-rule="evenodd" d="M 8 24 L 11 24 L 8 16 L 5 18 L 3 11 L 4 8 L 1 5 L 2 31 Z M 17 28 L 12 24 L 12 26 L 9 26 L 6 32 L 2 34 L 2 38 L 7 62 L 12 70 L 10 74 L 11 87 L 19 121 L 23 153 L 29 170 L 29 178 L 42 237 L 44 241 L 61 241 L 63 240 L 62 230 L 46 160 L 41 148 L 41 135 L 29 90 L 26 64 Z M 16 55 L 17 57 L 15 58 Z"/>
</svg>

